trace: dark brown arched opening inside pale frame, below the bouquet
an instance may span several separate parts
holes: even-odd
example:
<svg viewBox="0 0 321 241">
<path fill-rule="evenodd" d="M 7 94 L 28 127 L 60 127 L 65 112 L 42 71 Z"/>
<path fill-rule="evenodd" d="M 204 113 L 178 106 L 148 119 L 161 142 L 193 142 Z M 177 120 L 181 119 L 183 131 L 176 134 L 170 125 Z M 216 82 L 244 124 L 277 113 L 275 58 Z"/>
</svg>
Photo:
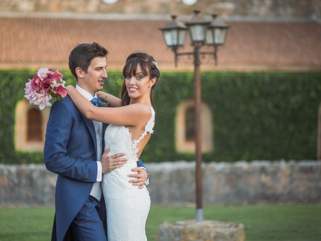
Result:
<svg viewBox="0 0 321 241">
<path fill-rule="evenodd" d="M 42 141 L 42 116 L 36 108 L 27 114 L 27 141 Z"/>
</svg>

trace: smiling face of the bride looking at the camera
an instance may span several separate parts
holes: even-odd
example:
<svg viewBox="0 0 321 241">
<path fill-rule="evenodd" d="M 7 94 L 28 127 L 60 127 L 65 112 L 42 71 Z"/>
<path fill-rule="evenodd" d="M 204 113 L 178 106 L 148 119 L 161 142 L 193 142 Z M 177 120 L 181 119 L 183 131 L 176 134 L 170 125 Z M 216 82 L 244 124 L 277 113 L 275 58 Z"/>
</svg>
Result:
<svg viewBox="0 0 321 241">
<path fill-rule="evenodd" d="M 149 75 L 143 75 L 139 64 L 137 65 L 135 75 L 126 73 L 125 77 L 125 85 L 130 98 L 138 98 L 144 95 L 150 95 L 152 81 L 149 80 Z"/>
</svg>

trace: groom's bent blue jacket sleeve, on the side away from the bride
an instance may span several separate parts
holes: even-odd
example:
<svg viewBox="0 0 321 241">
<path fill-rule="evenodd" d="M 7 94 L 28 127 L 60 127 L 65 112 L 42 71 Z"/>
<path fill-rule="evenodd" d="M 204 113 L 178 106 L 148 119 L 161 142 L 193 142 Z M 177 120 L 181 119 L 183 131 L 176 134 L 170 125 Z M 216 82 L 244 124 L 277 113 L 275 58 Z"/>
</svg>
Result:
<svg viewBox="0 0 321 241">
<path fill-rule="evenodd" d="M 65 177 L 86 182 L 97 179 L 96 160 L 82 160 L 67 153 L 72 116 L 63 101 L 56 101 L 51 110 L 47 124 L 44 160 L 49 171 Z M 80 148 L 80 147 L 79 147 Z"/>
</svg>

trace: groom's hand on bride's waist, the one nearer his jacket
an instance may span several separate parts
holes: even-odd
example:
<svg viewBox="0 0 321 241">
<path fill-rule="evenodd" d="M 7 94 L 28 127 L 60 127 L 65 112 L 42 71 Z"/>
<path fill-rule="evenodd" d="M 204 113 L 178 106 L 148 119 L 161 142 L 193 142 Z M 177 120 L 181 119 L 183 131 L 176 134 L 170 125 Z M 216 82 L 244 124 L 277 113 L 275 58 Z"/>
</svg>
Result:
<svg viewBox="0 0 321 241">
<path fill-rule="evenodd" d="M 104 151 L 100 159 L 103 174 L 122 167 L 128 161 L 128 159 L 124 157 L 125 153 L 117 153 L 108 157 L 109 151 L 110 147 Z"/>
</svg>

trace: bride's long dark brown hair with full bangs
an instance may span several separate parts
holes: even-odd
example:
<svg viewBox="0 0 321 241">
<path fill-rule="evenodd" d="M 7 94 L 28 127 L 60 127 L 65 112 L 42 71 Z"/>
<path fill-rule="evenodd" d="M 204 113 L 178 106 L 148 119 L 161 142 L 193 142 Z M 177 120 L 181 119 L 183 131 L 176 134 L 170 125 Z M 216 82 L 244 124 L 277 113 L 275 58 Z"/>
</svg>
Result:
<svg viewBox="0 0 321 241">
<path fill-rule="evenodd" d="M 125 66 L 122 70 L 122 75 L 125 79 L 128 74 L 136 75 L 136 69 L 138 64 L 141 68 L 144 77 L 147 75 L 149 75 L 149 79 L 156 77 L 156 81 L 153 84 L 153 86 L 151 86 L 150 90 L 150 102 L 151 105 L 153 105 L 153 88 L 156 85 L 158 77 L 161 76 L 161 73 L 159 72 L 158 66 L 156 66 L 157 63 L 152 56 L 143 52 L 135 52 L 130 54 L 126 59 Z M 120 96 L 121 105 L 128 105 L 130 98 L 126 89 L 125 80 L 121 87 Z"/>
</svg>

